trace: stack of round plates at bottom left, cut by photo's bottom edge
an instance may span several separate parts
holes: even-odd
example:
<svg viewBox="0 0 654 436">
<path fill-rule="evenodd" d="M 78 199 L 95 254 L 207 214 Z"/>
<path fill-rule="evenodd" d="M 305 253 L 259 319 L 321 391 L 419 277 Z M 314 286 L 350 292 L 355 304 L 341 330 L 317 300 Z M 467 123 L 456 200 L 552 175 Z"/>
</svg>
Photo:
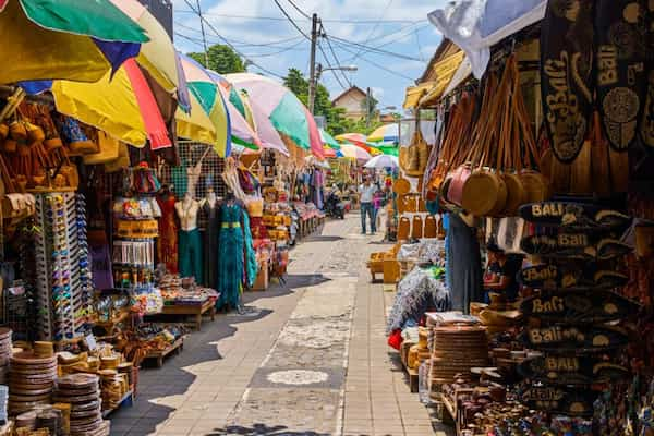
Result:
<svg viewBox="0 0 654 436">
<path fill-rule="evenodd" d="M 71 374 L 57 382 L 55 400 L 71 404 L 70 435 L 108 434 L 102 420 L 100 379 L 92 374 Z"/>
</svg>

